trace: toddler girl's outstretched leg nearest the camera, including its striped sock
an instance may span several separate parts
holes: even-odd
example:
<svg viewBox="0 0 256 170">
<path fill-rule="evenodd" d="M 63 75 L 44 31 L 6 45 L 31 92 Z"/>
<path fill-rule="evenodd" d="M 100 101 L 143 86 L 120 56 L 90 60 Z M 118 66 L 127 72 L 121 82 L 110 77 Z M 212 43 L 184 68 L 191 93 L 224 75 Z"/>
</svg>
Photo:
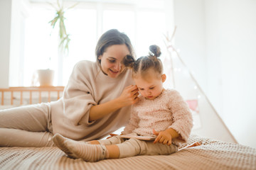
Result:
<svg viewBox="0 0 256 170">
<path fill-rule="evenodd" d="M 75 158 L 82 158 L 88 162 L 97 162 L 101 159 L 134 157 L 137 155 L 159 155 L 177 152 L 176 145 L 130 139 L 117 145 L 87 145 L 85 143 L 66 140 L 65 147 L 68 154 Z"/>
</svg>

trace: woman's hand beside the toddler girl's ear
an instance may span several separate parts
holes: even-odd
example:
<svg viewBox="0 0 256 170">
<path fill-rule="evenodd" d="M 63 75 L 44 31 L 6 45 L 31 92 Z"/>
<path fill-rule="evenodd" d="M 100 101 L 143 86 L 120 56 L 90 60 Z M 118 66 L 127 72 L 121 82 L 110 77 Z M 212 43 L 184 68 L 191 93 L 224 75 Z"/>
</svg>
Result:
<svg viewBox="0 0 256 170">
<path fill-rule="evenodd" d="M 118 101 L 121 103 L 121 105 L 124 106 L 130 106 L 134 103 L 137 103 L 139 101 L 139 89 L 136 85 L 130 85 L 124 88 L 124 91 L 122 92 L 121 96 L 119 96 Z"/>
</svg>

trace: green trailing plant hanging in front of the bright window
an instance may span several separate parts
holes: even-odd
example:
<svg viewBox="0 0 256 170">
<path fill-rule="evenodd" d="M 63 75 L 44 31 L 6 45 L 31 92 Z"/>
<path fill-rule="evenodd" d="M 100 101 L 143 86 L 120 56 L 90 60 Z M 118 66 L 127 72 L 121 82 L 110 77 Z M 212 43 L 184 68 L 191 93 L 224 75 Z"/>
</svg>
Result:
<svg viewBox="0 0 256 170">
<path fill-rule="evenodd" d="M 59 47 L 60 47 L 60 50 L 62 50 L 64 53 L 68 52 L 70 35 L 67 33 L 66 28 L 65 28 L 64 14 L 68 9 L 73 8 L 77 4 L 70 6 L 68 8 L 64 8 L 63 4 L 60 5 L 60 2 L 58 0 L 57 0 L 57 6 L 55 6 L 54 4 L 51 4 L 51 3 L 49 3 L 49 4 L 51 6 L 53 6 L 53 8 L 55 8 L 55 11 L 56 11 L 55 17 L 53 18 L 53 20 L 49 21 L 50 26 L 55 28 L 56 23 L 59 23 L 59 38 L 60 38 Z"/>
</svg>

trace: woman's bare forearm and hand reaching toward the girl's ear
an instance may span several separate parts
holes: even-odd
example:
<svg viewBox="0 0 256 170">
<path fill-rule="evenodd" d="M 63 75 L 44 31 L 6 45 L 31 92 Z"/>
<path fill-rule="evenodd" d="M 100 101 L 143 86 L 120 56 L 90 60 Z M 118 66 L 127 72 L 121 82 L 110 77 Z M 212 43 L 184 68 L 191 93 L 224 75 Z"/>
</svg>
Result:
<svg viewBox="0 0 256 170">
<path fill-rule="evenodd" d="M 137 86 L 130 85 L 124 89 L 121 96 L 118 98 L 100 105 L 92 106 L 90 108 L 89 121 L 98 120 L 105 115 L 117 111 L 119 108 L 137 103 L 139 100 L 139 98 L 137 98 L 139 95 L 138 91 Z"/>
</svg>

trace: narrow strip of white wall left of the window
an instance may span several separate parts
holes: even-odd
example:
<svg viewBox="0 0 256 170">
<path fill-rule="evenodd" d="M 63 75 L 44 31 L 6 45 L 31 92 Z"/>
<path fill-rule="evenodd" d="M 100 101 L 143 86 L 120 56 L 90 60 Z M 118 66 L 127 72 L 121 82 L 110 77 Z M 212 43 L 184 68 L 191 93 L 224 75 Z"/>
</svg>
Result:
<svg viewBox="0 0 256 170">
<path fill-rule="evenodd" d="M 9 86 L 11 0 L 0 1 L 0 88 Z"/>
</svg>

